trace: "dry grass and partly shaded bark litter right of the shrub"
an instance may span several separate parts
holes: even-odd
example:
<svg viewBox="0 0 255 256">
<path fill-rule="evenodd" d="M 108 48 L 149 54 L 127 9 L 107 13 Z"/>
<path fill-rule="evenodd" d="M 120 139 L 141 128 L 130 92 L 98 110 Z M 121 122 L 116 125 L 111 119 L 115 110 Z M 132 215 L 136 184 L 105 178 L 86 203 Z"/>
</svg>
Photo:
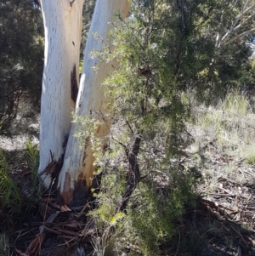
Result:
<svg viewBox="0 0 255 256">
<path fill-rule="evenodd" d="M 187 149 L 187 162 L 200 166 L 203 182 L 188 231 L 193 235 L 180 246 L 185 253 L 255 255 L 254 106 L 234 92 L 218 105 L 193 108 L 188 128 L 195 142 Z M 199 253 L 192 253 L 194 239 L 201 244 Z"/>
</svg>

